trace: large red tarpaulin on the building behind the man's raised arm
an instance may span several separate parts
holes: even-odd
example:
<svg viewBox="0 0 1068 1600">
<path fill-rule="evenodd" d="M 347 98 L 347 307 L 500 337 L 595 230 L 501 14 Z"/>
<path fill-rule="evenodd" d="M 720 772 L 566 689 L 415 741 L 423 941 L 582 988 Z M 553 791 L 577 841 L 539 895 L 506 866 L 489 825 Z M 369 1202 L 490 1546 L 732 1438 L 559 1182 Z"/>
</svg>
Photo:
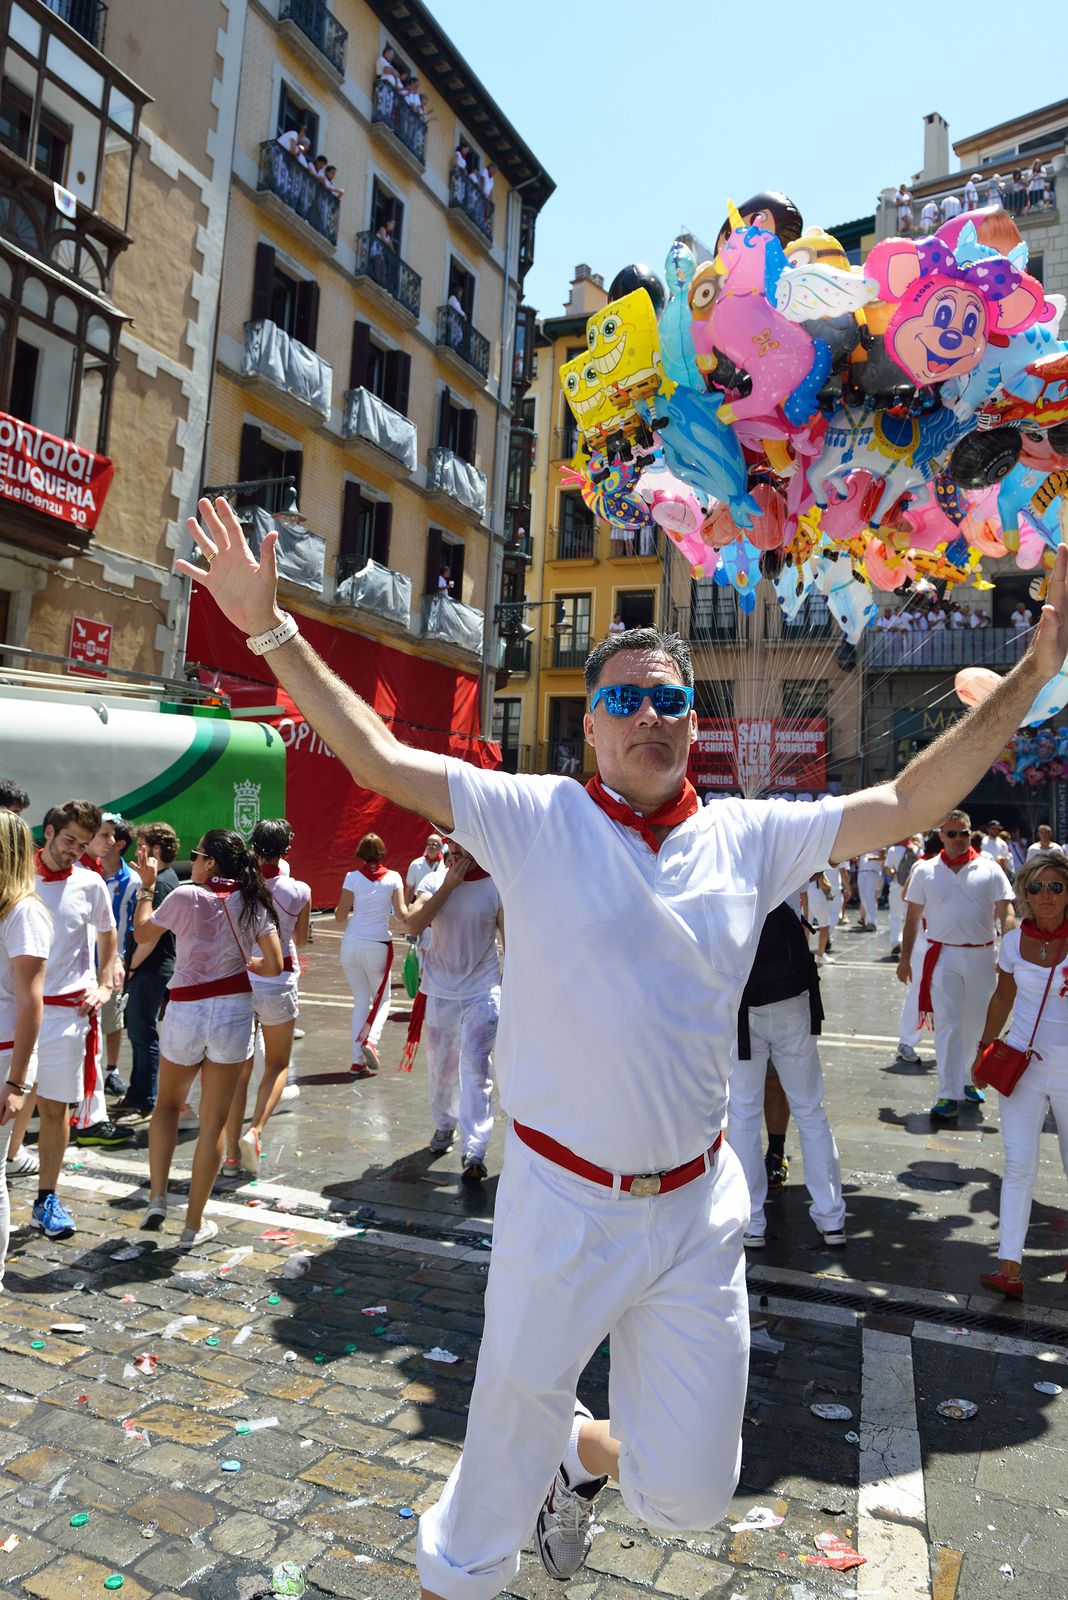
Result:
<svg viewBox="0 0 1068 1600">
<path fill-rule="evenodd" d="M 478 738 L 476 677 L 313 618 L 301 618 L 301 632 L 404 744 L 457 755 L 475 766 L 500 766 L 500 749 Z M 296 834 L 289 862 L 294 875 L 312 885 L 312 904 L 336 904 L 363 834 L 382 835 L 387 866 L 403 877 L 408 862 L 422 854 L 427 821 L 353 784 L 267 666 L 248 651 L 245 635 L 197 587 L 185 654 L 219 674 L 217 686 L 235 707 L 283 707 L 264 720 L 278 728 L 286 744 L 286 816 Z"/>
</svg>

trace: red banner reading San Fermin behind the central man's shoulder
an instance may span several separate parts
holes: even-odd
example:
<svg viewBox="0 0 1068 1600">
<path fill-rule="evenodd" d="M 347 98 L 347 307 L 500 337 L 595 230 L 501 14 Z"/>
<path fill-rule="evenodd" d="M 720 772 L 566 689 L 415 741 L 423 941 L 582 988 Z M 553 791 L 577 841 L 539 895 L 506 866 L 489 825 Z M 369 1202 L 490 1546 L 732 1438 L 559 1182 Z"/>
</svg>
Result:
<svg viewBox="0 0 1068 1600">
<path fill-rule="evenodd" d="M 823 717 L 699 717 L 689 757 L 695 789 L 827 789 Z"/>
</svg>

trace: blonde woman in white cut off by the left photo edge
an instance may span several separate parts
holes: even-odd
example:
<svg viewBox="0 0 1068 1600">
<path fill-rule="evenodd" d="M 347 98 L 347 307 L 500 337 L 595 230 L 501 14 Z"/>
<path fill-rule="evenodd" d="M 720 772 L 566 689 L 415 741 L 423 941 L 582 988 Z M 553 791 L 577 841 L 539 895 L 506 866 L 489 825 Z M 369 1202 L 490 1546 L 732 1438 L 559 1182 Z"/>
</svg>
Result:
<svg viewBox="0 0 1068 1600">
<path fill-rule="evenodd" d="M 0 1286 L 8 1256 L 8 1146 L 37 1078 L 51 917 L 37 898 L 34 835 L 16 811 L 0 811 Z"/>
</svg>

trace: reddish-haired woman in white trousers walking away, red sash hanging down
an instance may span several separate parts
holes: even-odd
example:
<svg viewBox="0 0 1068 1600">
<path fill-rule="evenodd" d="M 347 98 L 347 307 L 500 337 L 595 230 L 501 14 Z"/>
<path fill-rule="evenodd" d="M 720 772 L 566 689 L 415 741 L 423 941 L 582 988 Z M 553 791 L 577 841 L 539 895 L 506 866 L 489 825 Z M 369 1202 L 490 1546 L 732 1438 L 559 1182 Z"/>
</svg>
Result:
<svg viewBox="0 0 1068 1600">
<path fill-rule="evenodd" d="M 344 928 L 341 965 L 352 989 L 352 1067 L 360 1077 L 379 1070 L 379 1038 L 390 1014 L 393 934 L 390 912 L 408 925 L 404 883 L 382 862 L 385 845 L 365 834 L 357 845 L 357 869 L 345 874 L 334 922 Z"/>
</svg>

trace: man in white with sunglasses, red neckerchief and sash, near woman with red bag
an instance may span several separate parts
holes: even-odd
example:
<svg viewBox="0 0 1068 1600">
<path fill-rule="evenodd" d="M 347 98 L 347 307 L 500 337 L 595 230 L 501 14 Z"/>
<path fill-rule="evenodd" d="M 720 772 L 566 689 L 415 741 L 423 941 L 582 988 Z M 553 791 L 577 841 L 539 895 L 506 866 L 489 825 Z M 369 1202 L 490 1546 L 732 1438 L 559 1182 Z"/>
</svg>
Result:
<svg viewBox="0 0 1068 1600">
<path fill-rule="evenodd" d="M 961 1099 L 986 1098 L 967 1082 L 994 992 L 994 923 L 1015 926 L 1012 885 L 993 856 L 972 850 L 967 811 L 950 811 L 942 824 L 942 853 L 918 861 L 908 878 L 905 931 L 897 976 L 911 982 L 913 947 L 921 922 L 927 954 L 919 981 L 919 1019 L 935 1027 L 938 1098 L 932 1122 L 956 1117 Z"/>
</svg>

